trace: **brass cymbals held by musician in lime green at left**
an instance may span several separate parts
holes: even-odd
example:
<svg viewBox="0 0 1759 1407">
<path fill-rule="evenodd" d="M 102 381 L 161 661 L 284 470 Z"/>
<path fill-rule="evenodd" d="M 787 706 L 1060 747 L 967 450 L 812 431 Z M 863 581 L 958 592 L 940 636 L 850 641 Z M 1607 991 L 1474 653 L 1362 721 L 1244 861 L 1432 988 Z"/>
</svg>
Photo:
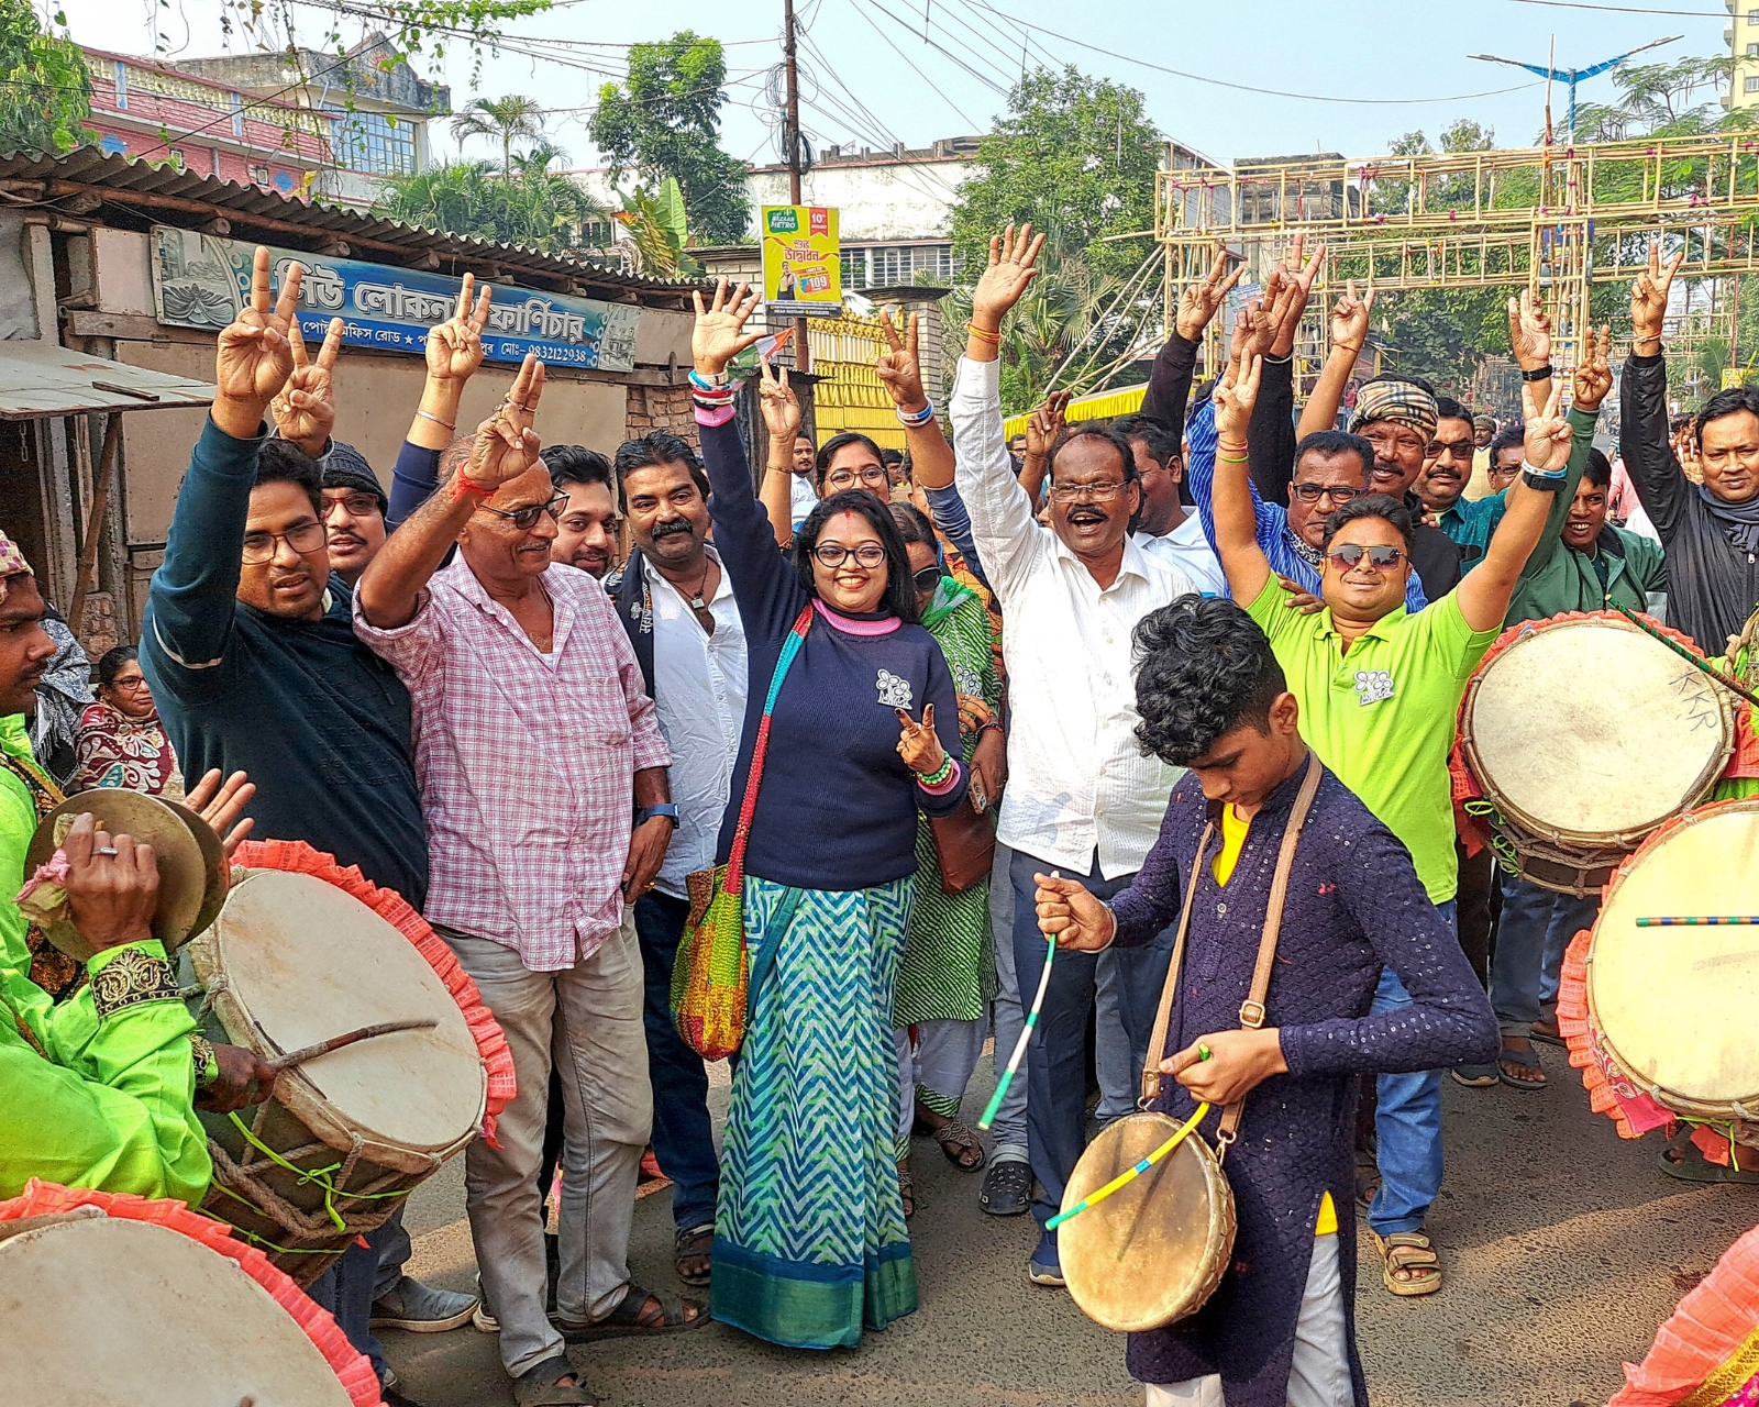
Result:
<svg viewBox="0 0 1759 1407">
<path fill-rule="evenodd" d="M 220 911 L 225 899 L 227 869 L 220 837 L 185 806 L 127 791 L 118 786 L 95 786 L 69 797 L 37 823 L 30 849 L 25 853 L 25 874 L 47 864 L 81 813 L 90 811 L 106 832 L 132 835 L 153 848 L 158 862 L 158 906 L 153 909 L 153 937 L 171 951 L 202 932 Z M 88 944 L 72 923 L 51 923 L 44 937 L 79 962 L 91 957 Z"/>
</svg>

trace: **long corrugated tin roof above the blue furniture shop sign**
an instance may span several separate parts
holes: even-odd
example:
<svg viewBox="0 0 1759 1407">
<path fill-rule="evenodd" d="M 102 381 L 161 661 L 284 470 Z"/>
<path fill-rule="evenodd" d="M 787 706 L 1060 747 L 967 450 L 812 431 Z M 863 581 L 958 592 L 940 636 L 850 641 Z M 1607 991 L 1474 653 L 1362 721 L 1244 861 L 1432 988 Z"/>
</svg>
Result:
<svg viewBox="0 0 1759 1407">
<path fill-rule="evenodd" d="M 239 237 L 269 236 L 290 248 L 345 241 L 352 253 L 375 262 L 445 269 L 452 274 L 485 271 L 491 278 L 515 278 L 549 292 L 575 292 L 623 303 L 675 304 L 697 283 L 626 273 L 572 255 L 540 253 L 522 244 L 468 239 L 422 225 L 405 225 L 347 206 L 308 204 L 255 185 L 237 185 L 215 176 L 195 176 L 169 165 L 150 165 L 127 157 L 109 157 L 81 146 L 62 157 L 14 151 L 0 155 L 0 192 L 39 200 L 49 213 L 135 227 L 146 223 L 201 229 L 213 218 L 234 225 Z M 498 273 L 496 273 L 498 271 Z"/>
</svg>

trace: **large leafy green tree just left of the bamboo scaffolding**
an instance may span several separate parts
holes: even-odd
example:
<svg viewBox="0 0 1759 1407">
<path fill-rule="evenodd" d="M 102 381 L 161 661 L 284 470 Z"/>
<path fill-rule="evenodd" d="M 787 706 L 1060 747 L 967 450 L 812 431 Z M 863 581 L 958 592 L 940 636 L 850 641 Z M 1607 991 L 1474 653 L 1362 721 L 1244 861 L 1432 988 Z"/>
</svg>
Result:
<svg viewBox="0 0 1759 1407">
<path fill-rule="evenodd" d="M 990 236 L 1031 220 L 1096 276 L 1128 276 L 1154 250 L 1154 172 L 1163 155 L 1135 88 L 1075 67 L 1024 74 L 959 192 L 953 257 L 978 269 Z M 1136 230 L 1147 234 L 1106 243 Z"/>
</svg>

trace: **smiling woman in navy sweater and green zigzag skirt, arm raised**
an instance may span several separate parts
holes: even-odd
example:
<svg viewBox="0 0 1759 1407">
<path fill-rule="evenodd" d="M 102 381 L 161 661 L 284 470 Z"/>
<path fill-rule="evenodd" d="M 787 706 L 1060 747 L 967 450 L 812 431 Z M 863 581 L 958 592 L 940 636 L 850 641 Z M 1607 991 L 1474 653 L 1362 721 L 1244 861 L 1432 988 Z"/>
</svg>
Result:
<svg viewBox="0 0 1759 1407">
<path fill-rule="evenodd" d="M 776 550 L 734 426 L 726 362 L 756 295 L 697 295 L 697 424 L 714 545 L 739 600 L 749 704 L 719 860 L 734 841 L 777 660 L 804 626 L 770 716 L 746 849 L 746 943 L 779 927 L 753 983 L 721 1155 L 714 1317 L 790 1347 L 855 1345 L 916 1309 L 892 1161 L 892 983 L 916 876 L 916 813 L 966 798 L 959 702 L 916 624 L 909 558 L 872 494 L 836 492 Z"/>
</svg>

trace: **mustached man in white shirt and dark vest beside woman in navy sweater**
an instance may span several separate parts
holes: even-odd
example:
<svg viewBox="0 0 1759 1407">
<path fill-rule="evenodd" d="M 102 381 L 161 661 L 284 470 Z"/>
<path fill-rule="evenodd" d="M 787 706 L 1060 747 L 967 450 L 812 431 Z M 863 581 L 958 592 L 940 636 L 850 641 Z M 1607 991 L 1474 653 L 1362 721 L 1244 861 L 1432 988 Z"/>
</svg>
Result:
<svg viewBox="0 0 1759 1407">
<path fill-rule="evenodd" d="M 690 443 L 651 431 L 616 456 L 635 547 L 605 582 L 630 633 L 660 732 L 672 751 L 677 832 L 649 893 L 635 899 L 647 981 L 647 1073 L 654 1157 L 672 1178 L 674 1268 L 709 1282 L 719 1166 L 709 1131 L 709 1076 L 672 1025 L 672 962 L 690 916 L 684 878 L 714 865 L 721 813 L 746 716 L 746 631 L 709 535 L 709 480 Z"/>
</svg>

